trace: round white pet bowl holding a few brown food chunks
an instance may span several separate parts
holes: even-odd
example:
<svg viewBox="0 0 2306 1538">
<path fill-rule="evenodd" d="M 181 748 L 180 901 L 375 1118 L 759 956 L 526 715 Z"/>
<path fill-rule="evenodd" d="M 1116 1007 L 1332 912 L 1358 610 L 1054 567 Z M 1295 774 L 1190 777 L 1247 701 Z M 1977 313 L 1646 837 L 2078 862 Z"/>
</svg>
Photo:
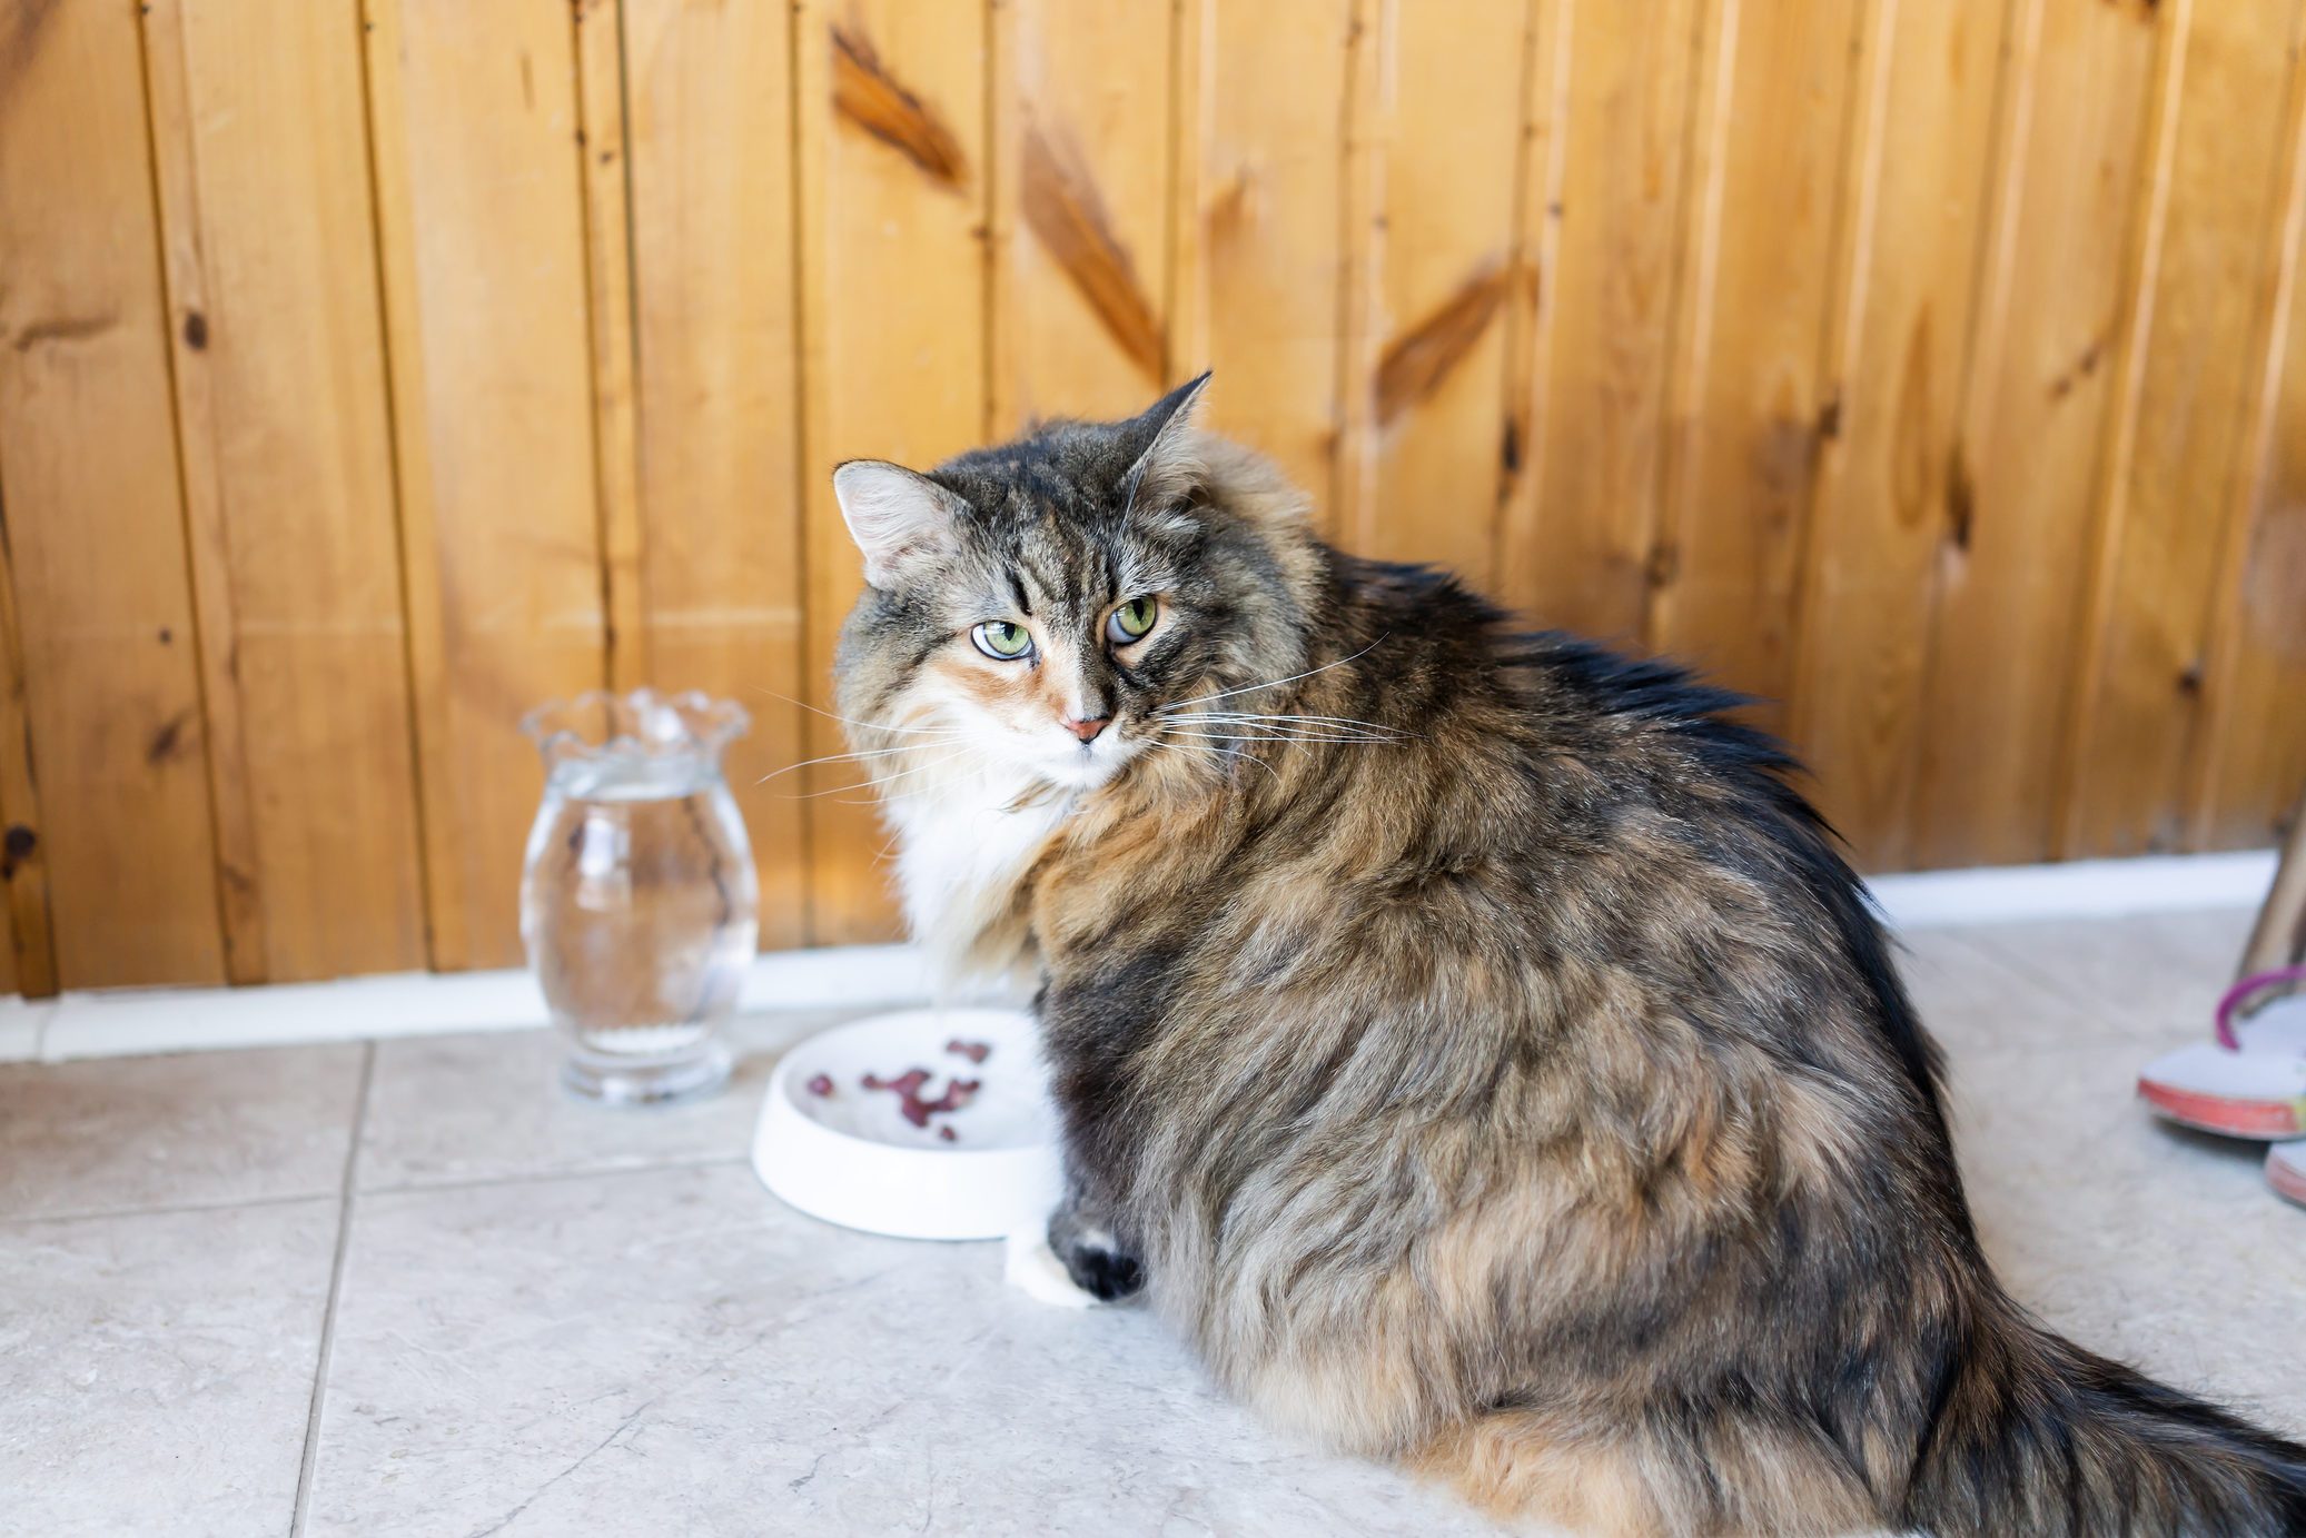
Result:
<svg viewBox="0 0 2306 1538">
<path fill-rule="evenodd" d="M 985 1042 L 982 1063 L 945 1042 Z M 959 1111 L 911 1125 L 890 1091 L 927 1068 L 932 1098 L 952 1077 L 978 1079 Z M 830 1095 L 809 1091 L 823 1075 Z M 952 1128 L 952 1141 L 939 1128 Z M 835 1026 L 784 1054 L 768 1079 L 752 1167 L 812 1217 L 897 1238 L 1001 1238 L 1049 1220 L 1063 1192 L 1056 1114 L 1033 1021 L 1017 1010 L 906 1010 Z"/>
</svg>

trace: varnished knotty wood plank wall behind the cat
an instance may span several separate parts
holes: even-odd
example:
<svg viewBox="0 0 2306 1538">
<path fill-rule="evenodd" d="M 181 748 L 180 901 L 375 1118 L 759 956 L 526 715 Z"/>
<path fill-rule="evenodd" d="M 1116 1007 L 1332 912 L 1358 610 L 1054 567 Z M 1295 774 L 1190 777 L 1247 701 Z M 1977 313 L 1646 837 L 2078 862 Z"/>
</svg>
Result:
<svg viewBox="0 0 2306 1538">
<path fill-rule="evenodd" d="M 1215 367 L 1868 867 L 2306 779 L 2301 0 L 0 0 L 5 987 L 517 959 L 547 696 L 888 929 L 826 470 Z M 814 791 L 802 796 L 800 791 Z"/>
</svg>

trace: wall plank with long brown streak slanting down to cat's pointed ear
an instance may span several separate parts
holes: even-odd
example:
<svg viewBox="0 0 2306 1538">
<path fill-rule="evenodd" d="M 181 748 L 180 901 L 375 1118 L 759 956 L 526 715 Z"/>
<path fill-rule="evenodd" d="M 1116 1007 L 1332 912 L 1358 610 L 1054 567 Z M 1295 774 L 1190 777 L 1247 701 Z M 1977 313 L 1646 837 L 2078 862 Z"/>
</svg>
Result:
<svg viewBox="0 0 2306 1538">
<path fill-rule="evenodd" d="M 992 21 L 992 436 L 1132 415 L 1169 341 L 1171 5 L 1003 0 Z"/>
</svg>

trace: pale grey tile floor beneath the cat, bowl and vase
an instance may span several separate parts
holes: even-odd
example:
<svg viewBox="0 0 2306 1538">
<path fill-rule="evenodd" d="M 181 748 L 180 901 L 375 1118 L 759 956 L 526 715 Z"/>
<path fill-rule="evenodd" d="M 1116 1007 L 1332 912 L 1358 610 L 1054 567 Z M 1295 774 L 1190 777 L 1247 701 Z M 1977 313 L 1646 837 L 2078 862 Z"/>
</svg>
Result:
<svg viewBox="0 0 2306 1538">
<path fill-rule="evenodd" d="M 2246 915 L 1909 936 L 1988 1247 L 2055 1326 L 2306 1430 L 2306 1213 L 2131 1100 Z M 766 1197 L 777 1049 L 570 1105 L 540 1033 L 0 1068 L 0 1531 L 1476 1533 L 1135 1310 Z"/>
</svg>

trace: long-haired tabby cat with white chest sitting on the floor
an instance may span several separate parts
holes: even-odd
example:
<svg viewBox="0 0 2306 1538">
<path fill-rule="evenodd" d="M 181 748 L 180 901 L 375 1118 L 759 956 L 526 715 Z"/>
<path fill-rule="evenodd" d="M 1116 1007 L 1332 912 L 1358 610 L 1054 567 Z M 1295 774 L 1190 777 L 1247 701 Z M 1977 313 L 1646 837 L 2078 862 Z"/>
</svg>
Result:
<svg viewBox="0 0 2306 1538">
<path fill-rule="evenodd" d="M 835 473 L 915 934 L 1031 966 L 1072 1194 L 1264 1416 L 1607 1533 L 2306 1531 L 2306 1448 L 2034 1324 L 1734 699 L 1342 556 L 1192 429 Z"/>
</svg>

